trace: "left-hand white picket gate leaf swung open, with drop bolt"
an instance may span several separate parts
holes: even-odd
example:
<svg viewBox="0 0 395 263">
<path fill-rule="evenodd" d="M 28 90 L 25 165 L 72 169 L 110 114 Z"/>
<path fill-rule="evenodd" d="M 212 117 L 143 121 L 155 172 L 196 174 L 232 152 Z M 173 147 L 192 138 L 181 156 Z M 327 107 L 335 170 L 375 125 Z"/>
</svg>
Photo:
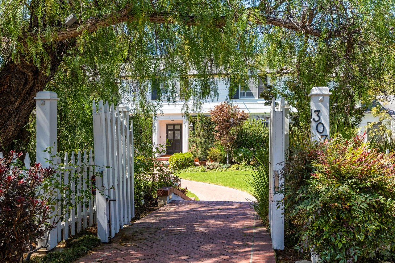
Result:
<svg viewBox="0 0 395 263">
<path fill-rule="evenodd" d="M 134 217 L 133 124 L 128 107 L 109 107 L 93 101 L 95 165 L 103 176 L 96 178 L 98 237 L 108 242 Z"/>
</svg>

